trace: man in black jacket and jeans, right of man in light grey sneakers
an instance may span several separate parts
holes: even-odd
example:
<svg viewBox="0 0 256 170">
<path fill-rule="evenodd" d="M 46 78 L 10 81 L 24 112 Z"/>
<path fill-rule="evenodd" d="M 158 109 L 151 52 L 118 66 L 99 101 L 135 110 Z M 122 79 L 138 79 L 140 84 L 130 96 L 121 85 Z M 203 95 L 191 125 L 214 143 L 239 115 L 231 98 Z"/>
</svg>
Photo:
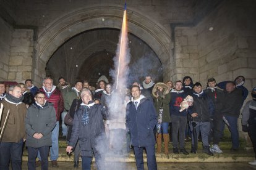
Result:
<svg viewBox="0 0 256 170">
<path fill-rule="evenodd" d="M 244 100 L 242 98 L 242 90 L 236 88 L 233 81 L 227 81 L 226 90 L 224 91 L 224 105 L 222 113 L 229 123 L 229 131 L 231 132 L 232 151 L 238 150 L 239 135 L 237 130 L 237 119 Z"/>
</svg>

